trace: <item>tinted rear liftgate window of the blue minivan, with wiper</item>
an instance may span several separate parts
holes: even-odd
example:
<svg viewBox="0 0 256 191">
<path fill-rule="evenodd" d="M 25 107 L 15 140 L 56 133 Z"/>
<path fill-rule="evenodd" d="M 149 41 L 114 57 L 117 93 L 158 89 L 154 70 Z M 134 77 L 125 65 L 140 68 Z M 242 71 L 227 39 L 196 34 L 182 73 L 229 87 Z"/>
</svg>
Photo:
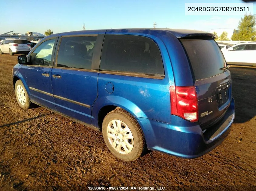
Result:
<svg viewBox="0 0 256 191">
<path fill-rule="evenodd" d="M 191 64 L 195 80 L 209 78 L 224 72 L 220 70 L 225 59 L 218 44 L 212 38 L 180 39 Z"/>
</svg>

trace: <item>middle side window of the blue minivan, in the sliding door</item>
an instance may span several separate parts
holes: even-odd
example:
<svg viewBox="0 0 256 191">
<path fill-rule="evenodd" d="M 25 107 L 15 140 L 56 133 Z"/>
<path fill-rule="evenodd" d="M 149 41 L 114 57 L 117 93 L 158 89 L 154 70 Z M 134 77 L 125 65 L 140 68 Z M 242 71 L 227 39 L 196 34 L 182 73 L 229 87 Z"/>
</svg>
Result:
<svg viewBox="0 0 256 191">
<path fill-rule="evenodd" d="M 91 69 L 94 46 L 87 47 L 86 43 L 96 39 L 96 36 L 63 37 L 58 49 L 57 67 Z"/>
</svg>

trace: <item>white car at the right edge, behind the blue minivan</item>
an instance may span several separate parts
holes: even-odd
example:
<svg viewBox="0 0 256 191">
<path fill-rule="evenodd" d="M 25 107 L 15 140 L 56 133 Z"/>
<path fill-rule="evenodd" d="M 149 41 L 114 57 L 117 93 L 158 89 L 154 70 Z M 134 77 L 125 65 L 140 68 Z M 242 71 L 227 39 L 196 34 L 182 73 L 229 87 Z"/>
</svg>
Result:
<svg viewBox="0 0 256 191">
<path fill-rule="evenodd" d="M 228 65 L 256 66 L 256 43 L 240 43 L 222 51 Z"/>
</svg>

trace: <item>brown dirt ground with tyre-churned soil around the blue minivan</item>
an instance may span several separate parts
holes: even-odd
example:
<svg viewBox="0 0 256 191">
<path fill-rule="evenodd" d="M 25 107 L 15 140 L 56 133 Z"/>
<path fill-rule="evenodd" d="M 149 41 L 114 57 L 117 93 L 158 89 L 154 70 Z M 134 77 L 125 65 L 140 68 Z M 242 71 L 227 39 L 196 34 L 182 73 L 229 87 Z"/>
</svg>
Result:
<svg viewBox="0 0 256 191">
<path fill-rule="evenodd" d="M 230 68 L 235 121 L 213 151 L 189 160 L 154 151 L 123 162 L 108 151 L 101 132 L 42 107 L 22 110 L 12 84 L 16 62 L 17 55 L 0 55 L 0 190 L 256 189 L 256 69 Z"/>
</svg>

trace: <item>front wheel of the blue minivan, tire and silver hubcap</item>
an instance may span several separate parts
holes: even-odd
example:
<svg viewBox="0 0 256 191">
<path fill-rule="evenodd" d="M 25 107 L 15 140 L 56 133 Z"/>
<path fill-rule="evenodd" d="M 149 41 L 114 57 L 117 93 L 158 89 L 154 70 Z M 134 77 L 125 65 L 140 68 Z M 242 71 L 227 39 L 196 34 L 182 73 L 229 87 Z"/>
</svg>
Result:
<svg viewBox="0 0 256 191">
<path fill-rule="evenodd" d="M 15 83 L 15 96 L 19 106 L 22 109 L 26 110 L 31 108 L 32 103 L 29 99 L 28 93 L 21 80 L 18 80 Z M 24 98 L 25 98 L 25 101 L 24 101 Z"/>
</svg>

